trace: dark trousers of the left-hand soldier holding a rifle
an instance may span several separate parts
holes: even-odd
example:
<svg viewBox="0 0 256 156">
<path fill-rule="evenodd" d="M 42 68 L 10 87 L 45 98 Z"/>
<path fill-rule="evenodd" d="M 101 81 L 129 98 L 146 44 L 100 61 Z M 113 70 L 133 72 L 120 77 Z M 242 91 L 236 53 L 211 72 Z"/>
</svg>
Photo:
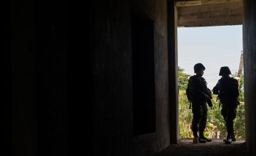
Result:
<svg viewBox="0 0 256 156">
<path fill-rule="evenodd" d="M 206 129 L 207 122 L 207 103 L 206 101 L 192 103 L 192 131 L 195 137 L 198 137 L 197 131 L 203 132 Z"/>
</svg>

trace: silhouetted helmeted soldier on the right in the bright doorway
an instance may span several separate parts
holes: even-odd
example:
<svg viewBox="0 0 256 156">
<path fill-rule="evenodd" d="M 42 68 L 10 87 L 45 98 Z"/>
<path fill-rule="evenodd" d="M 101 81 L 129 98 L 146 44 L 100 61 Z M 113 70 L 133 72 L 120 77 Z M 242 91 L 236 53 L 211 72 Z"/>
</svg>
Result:
<svg viewBox="0 0 256 156">
<path fill-rule="evenodd" d="M 237 79 L 230 77 L 230 69 L 228 67 L 220 68 L 221 79 L 213 88 L 213 93 L 218 94 L 220 103 L 222 104 L 221 114 L 224 117 L 227 128 L 227 139 L 225 144 L 230 144 L 231 141 L 236 141 L 234 134 L 234 123 L 237 113 L 237 105 L 239 104 L 238 82 Z"/>
</svg>

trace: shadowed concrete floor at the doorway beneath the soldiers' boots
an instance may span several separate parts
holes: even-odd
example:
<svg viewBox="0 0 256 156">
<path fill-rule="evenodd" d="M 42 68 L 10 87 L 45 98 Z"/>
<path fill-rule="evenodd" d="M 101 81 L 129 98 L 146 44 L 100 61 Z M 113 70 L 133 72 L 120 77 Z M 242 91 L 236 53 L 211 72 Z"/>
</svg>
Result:
<svg viewBox="0 0 256 156">
<path fill-rule="evenodd" d="M 181 139 L 180 144 L 169 145 L 165 150 L 157 154 L 157 156 L 171 155 L 225 155 L 225 156 L 245 156 L 246 144 L 244 139 L 226 145 L 223 139 L 213 139 L 208 143 L 194 144 L 193 139 Z"/>
</svg>

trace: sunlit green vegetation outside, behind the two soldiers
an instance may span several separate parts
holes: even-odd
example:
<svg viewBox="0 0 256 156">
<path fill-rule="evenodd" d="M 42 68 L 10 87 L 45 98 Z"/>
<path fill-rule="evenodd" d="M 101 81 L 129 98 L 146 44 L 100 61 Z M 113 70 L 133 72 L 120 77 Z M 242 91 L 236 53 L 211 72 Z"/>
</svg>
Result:
<svg viewBox="0 0 256 156">
<path fill-rule="evenodd" d="M 233 75 L 237 76 L 237 73 Z M 193 118 L 192 110 L 189 109 L 189 102 L 186 96 L 186 88 L 188 84 L 189 74 L 184 73 L 184 70 L 178 67 L 178 104 L 179 104 L 179 124 L 180 124 L 180 137 L 192 138 L 193 133 L 191 131 L 191 121 Z M 217 82 L 216 82 L 217 83 Z M 245 116 L 244 116 L 244 76 L 241 76 L 239 86 L 240 96 L 238 97 L 240 105 L 237 108 L 237 117 L 234 120 L 234 133 L 237 138 L 245 138 Z M 219 107 L 219 101 L 217 95 L 213 94 L 212 109 L 208 109 L 207 128 L 204 135 L 208 137 L 213 131 L 220 131 L 220 138 L 225 138 L 226 128 L 223 116 L 221 116 L 221 106 Z"/>
</svg>

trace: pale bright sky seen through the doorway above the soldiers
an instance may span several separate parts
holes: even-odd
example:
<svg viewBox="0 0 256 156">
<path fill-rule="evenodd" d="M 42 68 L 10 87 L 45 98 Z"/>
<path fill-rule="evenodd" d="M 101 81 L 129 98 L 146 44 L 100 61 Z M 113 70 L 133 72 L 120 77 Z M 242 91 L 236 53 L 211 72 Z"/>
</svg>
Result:
<svg viewBox="0 0 256 156">
<path fill-rule="evenodd" d="M 194 74 L 194 65 L 202 63 L 204 79 L 213 89 L 220 79 L 220 67 L 238 71 L 242 51 L 242 25 L 178 28 L 178 66 Z"/>
</svg>

